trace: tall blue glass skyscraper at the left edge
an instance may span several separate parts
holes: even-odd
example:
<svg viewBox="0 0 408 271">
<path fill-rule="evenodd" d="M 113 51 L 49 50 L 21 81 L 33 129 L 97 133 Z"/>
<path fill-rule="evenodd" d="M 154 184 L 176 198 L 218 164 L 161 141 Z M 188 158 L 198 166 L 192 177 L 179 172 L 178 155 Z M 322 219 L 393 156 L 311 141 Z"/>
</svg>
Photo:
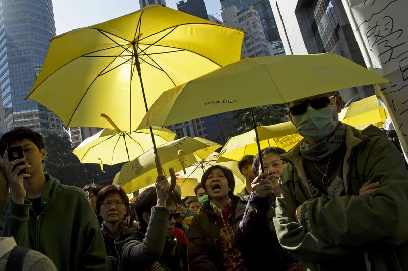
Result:
<svg viewBox="0 0 408 271">
<path fill-rule="evenodd" d="M 16 126 L 30 127 L 42 135 L 65 131 L 54 113 L 24 100 L 54 36 L 51 0 L 0 2 L 0 91 L 6 131 Z"/>
</svg>

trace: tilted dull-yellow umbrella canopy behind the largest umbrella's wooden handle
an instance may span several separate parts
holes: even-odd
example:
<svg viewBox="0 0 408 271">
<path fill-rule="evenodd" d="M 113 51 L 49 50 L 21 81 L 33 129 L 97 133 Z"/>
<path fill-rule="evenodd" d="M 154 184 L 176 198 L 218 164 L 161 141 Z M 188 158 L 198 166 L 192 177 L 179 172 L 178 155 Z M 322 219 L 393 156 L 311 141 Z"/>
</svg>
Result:
<svg viewBox="0 0 408 271">
<path fill-rule="evenodd" d="M 183 137 L 157 147 L 163 172 L 169 176 L 205 159 L 221 145 L 200 137 Z M 131 193 L 155 182 L 157 177 L 155 154 L 152 149 L 123 165 L 115 184 L 119 184 Z"/>
</svg>

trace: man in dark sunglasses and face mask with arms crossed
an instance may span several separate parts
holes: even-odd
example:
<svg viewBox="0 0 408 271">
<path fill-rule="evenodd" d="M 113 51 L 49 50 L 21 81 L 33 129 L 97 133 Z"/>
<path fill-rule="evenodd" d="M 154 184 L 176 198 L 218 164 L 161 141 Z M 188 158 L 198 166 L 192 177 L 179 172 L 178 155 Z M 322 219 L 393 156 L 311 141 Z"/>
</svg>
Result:
<svg viewBox="0 0 408 271">
<path fill-rule="evenodd" d="M 274 224 L 308 270 L 407 270 L 408 171 L 374 126 L 338 120 L 331 92 L 289 103 L 304 139 L 283 154 Z"/>
</svg>

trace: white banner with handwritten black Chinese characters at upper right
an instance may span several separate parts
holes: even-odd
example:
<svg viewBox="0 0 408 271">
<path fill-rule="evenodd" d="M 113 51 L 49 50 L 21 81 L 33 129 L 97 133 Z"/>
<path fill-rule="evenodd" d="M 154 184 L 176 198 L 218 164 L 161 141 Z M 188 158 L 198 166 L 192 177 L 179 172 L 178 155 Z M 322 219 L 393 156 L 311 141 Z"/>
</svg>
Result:
<svg viewBox="0 0 408 271">
<path fill-rule="evenodd" d="M 367 68 L 390 82 L 375 85 L 407 157 L 407 0 L 342 0 Z"/>
</svg>

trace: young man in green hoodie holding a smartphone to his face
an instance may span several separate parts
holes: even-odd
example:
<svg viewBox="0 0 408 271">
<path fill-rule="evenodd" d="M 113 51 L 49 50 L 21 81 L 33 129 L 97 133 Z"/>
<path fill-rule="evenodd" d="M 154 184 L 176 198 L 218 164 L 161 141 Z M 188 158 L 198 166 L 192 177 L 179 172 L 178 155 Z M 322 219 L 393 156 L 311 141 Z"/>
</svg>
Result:
<svg viewBox="0 0 408 271">
<path fill-rule="evenodd" d="M 7 148 L 21 146 L 24 158 L 8 161 Z M 105 270 L 99 224 L 85 193 L 44 174 L 43 138 L 17 127 L 0 139 L 2 164 L 10 175 L 10 197 L 1 236 L 47 255 L 58 270 Z M 23 162 L 24 164 L 18 165 Z M 21 173 L 21 170 L 27 173 Z"/>
</svg>

